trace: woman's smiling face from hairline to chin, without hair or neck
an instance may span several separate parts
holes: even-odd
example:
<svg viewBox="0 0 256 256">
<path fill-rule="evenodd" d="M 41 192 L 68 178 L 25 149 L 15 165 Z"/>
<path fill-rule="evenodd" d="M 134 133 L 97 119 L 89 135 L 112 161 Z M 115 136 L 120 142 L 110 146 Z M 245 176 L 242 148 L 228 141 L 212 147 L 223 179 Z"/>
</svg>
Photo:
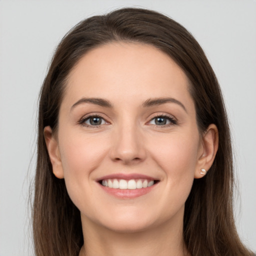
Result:
<svg viewBox="0 0 256 256">
<path fill-rule="evenodd" d="M 79 60 L 51 141 L 53 172 L 82 222 L 116 231 L 180 224 L 204 167 L 187 77 L 145 44 L 110 43 Z"/>
</svg>

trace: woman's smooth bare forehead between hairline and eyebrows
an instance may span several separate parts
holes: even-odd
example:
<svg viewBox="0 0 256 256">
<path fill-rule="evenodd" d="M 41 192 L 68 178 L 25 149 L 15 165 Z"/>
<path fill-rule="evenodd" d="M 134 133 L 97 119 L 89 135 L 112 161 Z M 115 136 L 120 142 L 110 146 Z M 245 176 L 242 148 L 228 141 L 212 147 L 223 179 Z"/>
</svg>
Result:
<svg viewBox="0 0 256 256">
<path fill-rule="evenodd" d="M 147 44 L 114 42 L 81 57 L 69 74 L 64 99 L 184 95 L 190 97 L 187 77 L 166 53 Z"/>
</svg>

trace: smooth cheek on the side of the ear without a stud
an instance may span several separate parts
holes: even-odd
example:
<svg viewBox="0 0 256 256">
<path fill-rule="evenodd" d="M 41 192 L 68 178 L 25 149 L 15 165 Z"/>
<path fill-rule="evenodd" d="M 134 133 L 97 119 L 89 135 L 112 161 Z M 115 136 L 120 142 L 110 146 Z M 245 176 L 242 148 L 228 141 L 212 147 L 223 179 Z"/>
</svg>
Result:
<svg viewBox="0 0 256 256">
<path fill-rule="evenodd" d="M 103 138 L 97 141 L 79 133 L 60 136 L 60 157 L 66 188 L 71 200 L 78 206 L 85 199 L 85 194 L 88 198 L 93 194 L 91 173 L 102 162 L 107 149 L 102 142 Z M 81 191 L 84 191 L 83 196 Z"/>
</svg>

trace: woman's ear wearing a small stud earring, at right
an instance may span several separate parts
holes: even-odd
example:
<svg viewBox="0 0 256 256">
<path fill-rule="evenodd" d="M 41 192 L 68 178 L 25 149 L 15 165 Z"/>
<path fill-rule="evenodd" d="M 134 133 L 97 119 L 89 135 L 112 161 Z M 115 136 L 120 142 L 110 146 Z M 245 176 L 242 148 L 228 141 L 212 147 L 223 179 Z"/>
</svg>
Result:
<svg viewBox="0 0 256 256">
<path fill-rule="evenodd" d="M 203 132 L 200 147 L 194 178 L 205 176 L 214 161 L 218 149 L 218 129 L 215 124 L 210 124 Z"/>
</svg>

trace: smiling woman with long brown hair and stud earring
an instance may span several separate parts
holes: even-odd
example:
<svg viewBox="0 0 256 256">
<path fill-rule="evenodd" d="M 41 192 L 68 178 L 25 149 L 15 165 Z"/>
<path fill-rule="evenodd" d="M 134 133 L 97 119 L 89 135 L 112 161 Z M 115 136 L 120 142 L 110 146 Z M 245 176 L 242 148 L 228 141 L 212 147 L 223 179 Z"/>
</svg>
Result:
<svg viewBox="0 0 256 256">
<path fill-rule="evenodd" d="M 251 255 L 230 134 L 201 47 L 157 12 L 77 24 L 40 92 L 36 255 Z"/>
</svg>

